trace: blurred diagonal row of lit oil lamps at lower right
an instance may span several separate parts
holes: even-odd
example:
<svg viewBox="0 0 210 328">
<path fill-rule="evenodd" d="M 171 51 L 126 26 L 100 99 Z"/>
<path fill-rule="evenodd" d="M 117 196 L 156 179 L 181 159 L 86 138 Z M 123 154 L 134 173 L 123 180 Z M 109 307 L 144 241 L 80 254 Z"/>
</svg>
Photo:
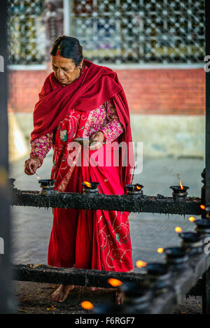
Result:
<svg viewBox="0 0 210 328">
<path fill-rule="evenodd" d="M 93 306 L 89 301 L 84 301 L 81 306 L 95 314 L 150 313 L 152 299 L 174 290 L 171 279 L 173 274 L 189 269 L 190 257 L 204 252 L 204 238 L 210 237 L 210 207 L 205 208 L 205 211 L 207 213 L 205 219 L 189 218 L 196 224 L 195 231 L 179 232 L 179 227 L 176 227 L 175 231 L 179 232 L 179 237 L 182 239 L 180 247 L 158 249 L 158 252 L 165 252 L 165 263 L 147 264 L 140 260 L 137 261 L 137 267 L 144 268 L 144 272 L 147 273 L 146 278 L 140 284 L 122 283 L 114 278 L 108 280 L 113 287 L 117 287 L 120 292 L 123 292 L 125 297 L 123 306 L 113 304 Z"/>
</svg>

